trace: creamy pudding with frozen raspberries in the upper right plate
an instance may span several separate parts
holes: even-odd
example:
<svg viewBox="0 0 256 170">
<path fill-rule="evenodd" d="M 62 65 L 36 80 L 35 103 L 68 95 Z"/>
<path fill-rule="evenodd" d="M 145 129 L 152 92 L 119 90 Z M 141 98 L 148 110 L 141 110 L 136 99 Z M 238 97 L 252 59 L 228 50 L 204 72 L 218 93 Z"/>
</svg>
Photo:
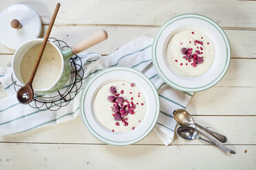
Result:
<svg viewBox="0 0 256 170">
<path fill-rule="evenodd" d="M 213 64 L 214 55 L 211 40 L 195 29 L 174 34 L 167 45 L 167 61 L 171 69 L 185 77 L 204 74 Z"/>
</svg>

